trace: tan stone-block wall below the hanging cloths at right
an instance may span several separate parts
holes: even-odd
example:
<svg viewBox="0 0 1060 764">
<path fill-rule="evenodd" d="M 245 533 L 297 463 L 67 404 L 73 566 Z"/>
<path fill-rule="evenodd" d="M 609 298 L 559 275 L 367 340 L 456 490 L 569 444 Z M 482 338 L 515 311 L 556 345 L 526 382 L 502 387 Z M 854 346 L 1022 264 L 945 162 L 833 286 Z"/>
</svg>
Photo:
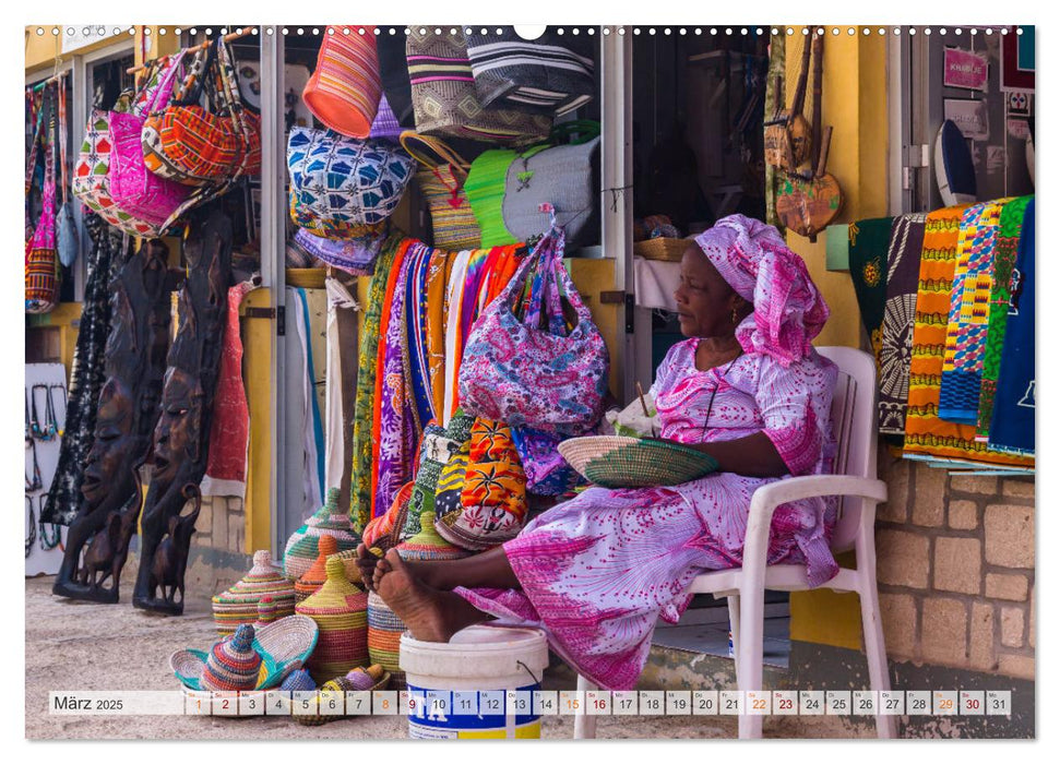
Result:
<svg viewBox="0 0 1060 764">
<path fill-rule="evenodd" d="M 880 606 L 892 660 L 1034 679 L 1034 479 L 881 455 Z"/>
</svg>

